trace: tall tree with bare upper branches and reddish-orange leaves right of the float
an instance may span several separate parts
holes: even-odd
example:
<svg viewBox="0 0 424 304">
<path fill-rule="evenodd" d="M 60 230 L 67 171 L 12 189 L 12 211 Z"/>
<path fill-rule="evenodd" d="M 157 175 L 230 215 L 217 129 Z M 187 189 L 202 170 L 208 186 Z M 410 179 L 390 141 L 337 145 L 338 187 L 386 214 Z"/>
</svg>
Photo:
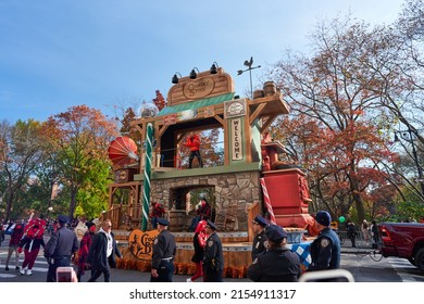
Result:
<svg viewBox="0 0 424 304">
<path fill-rule="evenodd" d="M 382 93 L 367 87 L 377 72 L 363 64 L 374 56 L 371 41 L 373 33 L 363 23 L 324 22 L 312 35 L 311 55 L 288 53 L 272 72 L 291 106 L 286 123 L 308 126 L 296 128 L 299 144 L 297 144 L 292 153 L 302 151 L 315 207 L 339 215 L 338 207 L 346 214 L 354 204 L 360 220 L 370 183 L 384 176 L 375 164 L 392 162 L 382 132 L 388 123 L 387 111 L 378 106 Z"/>
</svg>

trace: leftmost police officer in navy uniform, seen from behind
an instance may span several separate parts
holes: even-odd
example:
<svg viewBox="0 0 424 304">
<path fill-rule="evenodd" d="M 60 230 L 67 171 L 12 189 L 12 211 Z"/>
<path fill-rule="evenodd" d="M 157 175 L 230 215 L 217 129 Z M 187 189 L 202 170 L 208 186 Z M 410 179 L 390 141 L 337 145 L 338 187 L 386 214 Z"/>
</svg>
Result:
<svg viewBox="0 0 424 304">
<path fill-rule="evenodd" d="M 55 269 L 70 266 L 71 256 L 78 250 L 78 240 L 76 235 L 66 228 L 67 221 L 67 216 L 58 216 L 59 229 L 45 246 L 45 257 L 49 262 L 48 282 L 55 282 Z"/>
</svg>

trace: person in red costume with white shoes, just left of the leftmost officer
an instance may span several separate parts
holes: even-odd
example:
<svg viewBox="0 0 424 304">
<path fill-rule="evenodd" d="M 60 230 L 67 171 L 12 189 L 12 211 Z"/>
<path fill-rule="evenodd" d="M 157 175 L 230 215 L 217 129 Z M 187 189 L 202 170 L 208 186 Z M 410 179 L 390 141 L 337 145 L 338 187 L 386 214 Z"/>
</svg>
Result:
<svg viewBox="0 0 424 304">
<path fill-rule="evenodd" d="M 24 263 L 22 263 L 21 276 L 33 275 L 33 267 L 37 258 L 40 246 L 45 248 L 42 235 L 39 233 L 40 227 L 34 225 L 27 230 L 26 236 L 21 240 L 17 252 L 21 253 L 24 249 Z"/>
</svg>

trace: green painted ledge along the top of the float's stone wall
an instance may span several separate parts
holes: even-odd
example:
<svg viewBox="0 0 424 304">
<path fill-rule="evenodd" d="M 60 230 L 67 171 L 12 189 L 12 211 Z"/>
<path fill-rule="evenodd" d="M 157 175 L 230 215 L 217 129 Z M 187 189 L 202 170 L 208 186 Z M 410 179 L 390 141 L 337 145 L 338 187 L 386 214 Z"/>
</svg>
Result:
<svg viewBox="0 0 424 304">
<path fill-rule="evenodd" d="M 182 170 L 170 170 L 170 172 L 154 172 L 151 173 L 151 179 L 166 179 L 166 178 L 178 178 L 178 177 L 192 177 L 202 175 L 216 175 L 216 174 L 230 174 L 241 172 L 262 172 L 261 163 L 244 163 L 233 164 L 228 166 L 216 166 L 207 168 L 191 168 Z M 142 174 L 134 175 L 134 180 L 144 180 Z"/>
</svg>

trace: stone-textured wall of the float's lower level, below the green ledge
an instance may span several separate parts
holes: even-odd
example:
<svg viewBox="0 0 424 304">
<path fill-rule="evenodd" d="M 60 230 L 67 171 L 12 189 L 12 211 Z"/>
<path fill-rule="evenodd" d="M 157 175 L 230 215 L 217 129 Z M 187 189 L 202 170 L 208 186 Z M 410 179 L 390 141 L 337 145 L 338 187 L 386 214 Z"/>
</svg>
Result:
<svg viewBox="0 0 424 304">
<path fill-rule="evenodd" d="M 178 189 L 189 190 L 200 187 L 215 189 L 216 214 L 222 211 L 236 216 L 235 231 L 248 229 L 248 207 L 262 201 L 260 172 L 239 172 L 196 177 L 178 177 L 151 180 L 151 200 L 172 202 Z"/>
</svg>

